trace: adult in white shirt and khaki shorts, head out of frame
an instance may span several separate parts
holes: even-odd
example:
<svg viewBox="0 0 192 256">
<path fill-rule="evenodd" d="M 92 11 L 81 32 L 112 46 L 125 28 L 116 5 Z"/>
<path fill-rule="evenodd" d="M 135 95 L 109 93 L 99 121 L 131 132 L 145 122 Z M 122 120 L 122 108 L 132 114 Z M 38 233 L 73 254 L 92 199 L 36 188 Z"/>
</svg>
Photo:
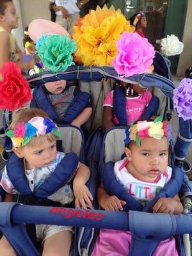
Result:
<svg viewBox="0 0 192 256">
<path fill-rule="evenodd" d="M 65 28 L 70 35 L 73 33 L 73 26 L 77 24 L 81 7 L 90 0 L 49 0 L 51 10 L 56 12 L 56 23 Z"/>
</svg>

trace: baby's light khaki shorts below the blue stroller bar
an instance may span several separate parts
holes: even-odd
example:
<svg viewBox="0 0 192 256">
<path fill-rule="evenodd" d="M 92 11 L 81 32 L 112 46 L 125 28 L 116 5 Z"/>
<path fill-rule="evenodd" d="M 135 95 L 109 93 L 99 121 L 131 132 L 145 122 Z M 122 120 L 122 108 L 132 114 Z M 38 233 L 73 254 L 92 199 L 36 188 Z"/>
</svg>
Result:
<svg viewBox="0 0 192 256">
<path fill-rule="evenodd" d="M 44 243 L 48 237 L 65 230 L 69 230 L 74 233 L 73 227 L 40 224 L 36 225 L 36 237 L 39 241 Z"/>
</svg>

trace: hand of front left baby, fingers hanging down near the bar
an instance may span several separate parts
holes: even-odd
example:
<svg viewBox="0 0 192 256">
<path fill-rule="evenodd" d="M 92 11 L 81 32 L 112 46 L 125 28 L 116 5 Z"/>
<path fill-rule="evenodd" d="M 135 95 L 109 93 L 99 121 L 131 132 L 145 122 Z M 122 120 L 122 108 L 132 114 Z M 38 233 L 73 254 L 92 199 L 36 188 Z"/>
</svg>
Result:
<svg viewBox="0 0 192 256">
<path fill-rule="evenodd" d="M 86 204 L 92 207 L 93 196 L 86 185 L 82 184 L 74 189 L 74 196 L 76 197 L 75 204 L 77 208 L 81 208 L 82 206 L 83 209 L 87 209 Z"/>
</svg>

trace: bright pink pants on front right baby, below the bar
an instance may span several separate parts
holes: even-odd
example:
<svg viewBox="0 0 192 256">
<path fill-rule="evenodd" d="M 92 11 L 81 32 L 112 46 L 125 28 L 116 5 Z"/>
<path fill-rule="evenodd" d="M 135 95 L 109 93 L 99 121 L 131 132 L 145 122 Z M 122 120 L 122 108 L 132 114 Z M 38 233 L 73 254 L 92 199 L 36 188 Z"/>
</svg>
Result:
<svg viewBox="0 0 192 256">
<path fill-rule="evenodd" d="M 101 229 L 92 256 L 127 256 L 130 244 L 130 232 Z M 179 256 L 173 237 L 162 241 L 154 252 L 154 256 L 170 255 Z"/>
</svg>

